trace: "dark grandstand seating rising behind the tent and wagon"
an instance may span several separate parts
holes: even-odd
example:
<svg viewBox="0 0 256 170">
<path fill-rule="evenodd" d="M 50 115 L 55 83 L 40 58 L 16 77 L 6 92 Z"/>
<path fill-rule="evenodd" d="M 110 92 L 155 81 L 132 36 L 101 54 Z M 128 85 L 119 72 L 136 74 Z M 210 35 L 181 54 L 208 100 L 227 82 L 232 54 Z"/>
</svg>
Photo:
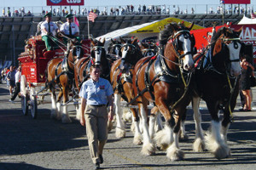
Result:
<svg viewBox="0 0 256 170">
<path fill-rule="evenodd" d="M 224 22 L 237 24 L 243 15 L 225 14 L 224 18 L 222 14 L 100 15 L 96 18 L 96 22 L 90 22 L 90 34 L 93 37 L 100 37 L 110 31 L 168 17 L 179 18 L 189 22 L 195 21 L 196 25 L 209 27 L 212 26 L 214 21 L 217 21 L 218 25 L 222 25 L 223 19 Z M 87 17 L 80 16 L 78 19 L 80 36 L 87 38 Z M 38 23 L 42 20 L 44 20 L 44 17 L 41 16 L 0 17 L 0 59 L 15 60 L 17 62 L 18 55 L 24 51 L 26 38 L 36 34 Z M 64 17 L 56 16 L 52 20 L 66 21 Z"/>
</svg>

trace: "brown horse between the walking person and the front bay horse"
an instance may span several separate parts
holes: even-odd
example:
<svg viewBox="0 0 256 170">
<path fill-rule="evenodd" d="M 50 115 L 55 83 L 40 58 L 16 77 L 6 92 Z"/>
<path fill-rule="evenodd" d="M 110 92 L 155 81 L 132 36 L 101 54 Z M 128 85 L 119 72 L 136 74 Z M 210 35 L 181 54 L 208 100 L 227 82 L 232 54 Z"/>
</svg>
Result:
<svg viewBox="0 0 256 170">
<path fill-rule="evenodd" d="M 131 102 L 131 99 L 134 99 L 135 95 L 133 93 L 132 87 L 132 70 L 134 65 L 139 59 L 143 58 L 141 48 L 137 44 L 137 38 L 133 40 L 125 41 L 122 37 L 119 37 L 122 42 L 120 48 L 121 58 L 116 60 L 110 71 L 110 81 L 113 86 L 113 96 L 114 96 L 114 105 L 115 105 L 115 115 L 116 115 L 116 128 L 115 136 L 116 138 L 125 137 L 125 124 L 121 119 L 121 106 L 120 99 L 124 99 L 126 102 Z M 131 105 L 137 105 L 133 103 Z M 133 143 L 141 144 L 141 132 L 138 127 L 138 114 L 137 110 L 131 108 L 132 115 L 135 120 L 135 137 Z"/>
</svg>

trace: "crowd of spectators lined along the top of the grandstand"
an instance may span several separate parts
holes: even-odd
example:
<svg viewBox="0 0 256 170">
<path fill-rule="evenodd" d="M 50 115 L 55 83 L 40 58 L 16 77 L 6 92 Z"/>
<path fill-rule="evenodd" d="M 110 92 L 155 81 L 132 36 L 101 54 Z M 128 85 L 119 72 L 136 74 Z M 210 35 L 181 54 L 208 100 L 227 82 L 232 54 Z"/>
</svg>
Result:
<svg viewBox="0 0 256 170">
<path fill-rule="evenodd" d="M 183 6 L 184 7 L 184 6 Z M 7 10 L 6 10 L 7 9 Z M 57 8 L 42 8 L 40 14 L 32 14 L 30 10 L 25 11 L 25 8 L 13 9 L 3 8 L 3 17 L 23 17 L 32 15 L 42 15 L 52 12 L 54 16 L 65 16 L 67 14 L 84 15 L 86 16 L 92 11 L 98 15 L 143 15 L 143 14 L 195 14 L 195 8 L 180 8 L 178 5 L 138 5 L 137 7 L 131 5 L 119 6 L 119 7 L 104 7 L 102 11 L 99 8 L 79 8 L 75 10 L 67 7 Z M 207 8 L 205 14 L 251 14 L 253 13 L 253 6 L 244 8 L 243 6 L 227 6 L 223 8 L 223 5 L 219 5 L 215 8 Z"/>
</svg>

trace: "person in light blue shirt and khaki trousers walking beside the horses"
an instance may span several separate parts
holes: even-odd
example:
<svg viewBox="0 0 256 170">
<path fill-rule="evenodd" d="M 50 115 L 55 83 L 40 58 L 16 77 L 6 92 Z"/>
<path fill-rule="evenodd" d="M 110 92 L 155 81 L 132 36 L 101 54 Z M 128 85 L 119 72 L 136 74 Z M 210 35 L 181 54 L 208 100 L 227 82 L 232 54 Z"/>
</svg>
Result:
<svg viewBox="0 0 256 170">
<path fill-rule="evenodd" d="M 90 79 L 83 83 L 79 93 L 80 124 L 82 126 L 86 124 L 90 157 L 96 169 L 99 169 L 100 163 L 103 163 L 103 148 L 108 139 L 108 119 L 113 119 L 113 88 L 108 80 L 100 77 L 101 71 L 99 65 L 91 65 Z"/>
</svg>

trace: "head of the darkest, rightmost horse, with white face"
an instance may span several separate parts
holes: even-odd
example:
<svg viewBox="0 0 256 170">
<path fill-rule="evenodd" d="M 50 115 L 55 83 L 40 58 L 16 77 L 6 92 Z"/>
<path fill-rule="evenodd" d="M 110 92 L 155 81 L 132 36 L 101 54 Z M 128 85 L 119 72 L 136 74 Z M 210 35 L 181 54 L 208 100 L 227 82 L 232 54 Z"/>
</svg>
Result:
<svg viewBox="0 0 256 170">
<path fill-rule="evenodd" d="M 222 27 L 218 29 L 212 37 L 212 63 L 214 59 L 217 61 L 217 67 L 221 71 L 226 71 L 231 77 L 237 77 L 241 73 L 240 56 L 241 56 L 241 41 L 239 31 L 233 31 L 230 28 Z"/>
</svg>

